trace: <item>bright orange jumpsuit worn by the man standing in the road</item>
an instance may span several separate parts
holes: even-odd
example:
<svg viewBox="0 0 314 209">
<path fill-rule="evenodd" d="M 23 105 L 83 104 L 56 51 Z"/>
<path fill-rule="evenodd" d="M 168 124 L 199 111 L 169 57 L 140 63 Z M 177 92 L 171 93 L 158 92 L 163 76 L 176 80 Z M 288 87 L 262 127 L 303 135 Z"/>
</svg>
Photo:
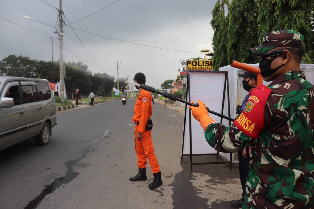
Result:
<svg viewBox="0 0 314 209">
<path fill-rule="evenodd" d="M 154 154 L 154 146 L 150 132 L 146 131 L 145 126 L 147 119 L 153 113 L 152 97 L 149 91 L 143 90 L 139 92 L 134 106 L 134 116 L 132 118 L 135 122 L 135 150 L 138 157 L 138 167 L 146 168 L 147 161 L 152 168 L 152 173 L 160 172 L 160 166 L 158 165 L 156 155 Z M 137 140 L 137 134 L 143 133 L 141 141 Z"/>
</svg>

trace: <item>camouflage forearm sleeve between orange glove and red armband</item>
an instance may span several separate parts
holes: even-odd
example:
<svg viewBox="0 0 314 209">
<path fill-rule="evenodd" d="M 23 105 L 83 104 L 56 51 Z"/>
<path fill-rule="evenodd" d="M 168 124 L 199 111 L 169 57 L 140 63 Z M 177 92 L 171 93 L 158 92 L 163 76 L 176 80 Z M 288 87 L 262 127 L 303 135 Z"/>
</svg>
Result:
<svg viewBox="0 0 314 209">
<path fill-rule="evenodd" d="M 237 152 L 252 139 L 234 124 L 225 127 L 219 123 L 210 124 L 204 132 L 207 143 L 219 152 Z"/>
</svg>

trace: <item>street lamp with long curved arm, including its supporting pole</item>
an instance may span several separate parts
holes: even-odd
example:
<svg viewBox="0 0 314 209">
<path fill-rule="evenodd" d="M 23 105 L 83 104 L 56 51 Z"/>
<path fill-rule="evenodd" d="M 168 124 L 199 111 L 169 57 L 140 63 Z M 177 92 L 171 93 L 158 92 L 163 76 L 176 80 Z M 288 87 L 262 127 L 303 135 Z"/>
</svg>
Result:
<svg viewBox="0 0 314 209">
<path fill-rule="evenodd" d="M 58 91 L 60 91 L 60 99 L 64 103 L 64 81 L 63 81 L 64 63 L 63 63 L 63 40 L 62 40 L 62 35 L 64 35 L 65 32 L 62 31 L 62 7 L 61 7 L 61 10 L 59 11 L 59 13 L 61 13 L 61 15 L 60 15 L 60 30 L 59 30 L 60 33 L 58 32 L 57 28 L 52 26 L 52 25 L 49 25 L 49 24 L 46 24 L 46 23 L 42 23 L 42 22 L 37 21 L 37 20 L 33 20 L 32 18 L 30 18 L 30 17 L 28 17 L 26 15 L 24 15 L 23 18 L 28 19 L 28 20 L 33 20 L 35 22 L 42 23 L 42 24 L 45 24 L 45 25 L 49 25 L 49 26 L 53 27 L 54 29 L 56 29 L 56 31 L 54 31 L 54 33 L 59 35 L 60 90 L 58 90 Z M 52 60 L 52 62 L 53 62 L 53 60 Z M 52 70 L 52 76 L 53 76 L 53 70 Z M 52 78 L 52 81 L 53 81 L 53 78 Z"/>
</svg>

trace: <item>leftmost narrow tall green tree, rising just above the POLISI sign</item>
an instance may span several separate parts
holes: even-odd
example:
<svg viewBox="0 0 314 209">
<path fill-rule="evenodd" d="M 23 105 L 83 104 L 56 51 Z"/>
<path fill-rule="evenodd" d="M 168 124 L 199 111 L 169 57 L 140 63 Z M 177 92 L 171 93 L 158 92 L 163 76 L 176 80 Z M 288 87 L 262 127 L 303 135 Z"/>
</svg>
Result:
<svg viewBox="0 0 314 209">
<path fill-rule="evenodd" d="M 220 0 L 214 6 L 212 11 L 213 18 L 210 21 L 212 28 L 214 30 L 213 36 L 213 70 L 218 71 L 219 67 L 229 65 L 228 63 L 228 19 L 225 17 L 225 4 L 228 9 L 230 8 L 230 3 L 228 0 Z"/>
</svg>

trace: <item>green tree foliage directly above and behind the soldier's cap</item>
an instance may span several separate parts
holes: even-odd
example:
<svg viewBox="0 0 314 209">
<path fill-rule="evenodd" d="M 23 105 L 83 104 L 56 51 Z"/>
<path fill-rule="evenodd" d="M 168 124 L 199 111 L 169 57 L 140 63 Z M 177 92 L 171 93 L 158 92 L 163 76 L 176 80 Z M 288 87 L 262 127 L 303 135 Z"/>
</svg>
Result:
<svg viewBox="0 0 314 209">
<path fill-rule="evenodd" d="M 313 51 L 313 11 L 312 0 L 257 0 L 257 23 L 259 39 L 273 30 L 295 30 L 304 36 L 305 63 L 312 63 L 309 52 Z M 261 44 L 261 43 L 259 43 Z"/>
</svg>

